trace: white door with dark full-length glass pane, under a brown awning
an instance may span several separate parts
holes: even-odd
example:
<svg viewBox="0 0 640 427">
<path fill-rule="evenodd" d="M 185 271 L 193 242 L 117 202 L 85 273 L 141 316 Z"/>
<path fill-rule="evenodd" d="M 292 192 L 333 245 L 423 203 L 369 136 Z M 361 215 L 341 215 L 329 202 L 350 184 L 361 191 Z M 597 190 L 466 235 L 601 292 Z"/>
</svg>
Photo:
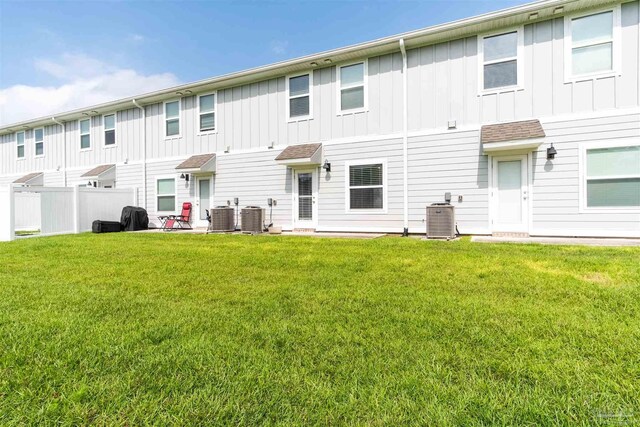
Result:
<svg viewBox="0 0 640 427">
<path fill-rule="evenodd" d="M 316 228 L 318 224 L 317 187 L 315 169 L 296 170 L 294 172 L 294 228 Z"/>
</svg>

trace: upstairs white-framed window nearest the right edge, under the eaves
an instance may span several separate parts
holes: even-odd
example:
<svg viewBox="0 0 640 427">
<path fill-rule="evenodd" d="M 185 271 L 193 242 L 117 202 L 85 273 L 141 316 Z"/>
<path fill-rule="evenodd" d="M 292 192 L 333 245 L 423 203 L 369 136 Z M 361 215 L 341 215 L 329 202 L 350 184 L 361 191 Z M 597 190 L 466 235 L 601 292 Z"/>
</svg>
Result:
<svg viewBox="0 0 640 427">
<path fill-rule="evenodd" d="M 615 68 L 615 29 L 617 10 L 566 18 L 569 40 L 567 77 L 612 72 Z"/>
</svg>

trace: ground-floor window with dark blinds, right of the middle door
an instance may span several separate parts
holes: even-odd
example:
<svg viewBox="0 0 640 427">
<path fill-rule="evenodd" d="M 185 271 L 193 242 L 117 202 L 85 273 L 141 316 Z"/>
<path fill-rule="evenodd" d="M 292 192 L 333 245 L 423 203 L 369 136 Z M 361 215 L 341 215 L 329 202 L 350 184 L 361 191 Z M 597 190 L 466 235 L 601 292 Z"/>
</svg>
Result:
<svg viewBox="0 0 640 427">
<path fill-rule="evenodd" d="M 349 164 L 349 210 L 384 209 L 384 164 Z"/>
</svg>

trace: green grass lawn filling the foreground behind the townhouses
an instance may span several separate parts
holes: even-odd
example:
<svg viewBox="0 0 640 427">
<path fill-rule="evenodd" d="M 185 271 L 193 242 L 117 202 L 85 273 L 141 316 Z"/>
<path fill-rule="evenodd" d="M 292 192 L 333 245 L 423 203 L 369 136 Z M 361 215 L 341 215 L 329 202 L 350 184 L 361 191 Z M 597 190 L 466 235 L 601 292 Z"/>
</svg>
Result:
<svg viewBox="0 0 640 427">
<path fill-rule="evenodd" d="M 640 423 L 640 248 L 118 233 L 0 255 L 1 425 Z"/>
</svg>

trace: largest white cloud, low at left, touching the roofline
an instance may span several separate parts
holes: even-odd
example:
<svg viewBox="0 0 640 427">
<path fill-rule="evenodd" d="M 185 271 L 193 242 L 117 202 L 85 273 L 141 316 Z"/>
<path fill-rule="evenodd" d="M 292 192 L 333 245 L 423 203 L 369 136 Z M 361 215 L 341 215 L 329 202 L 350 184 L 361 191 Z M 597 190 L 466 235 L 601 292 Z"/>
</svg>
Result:
<svg viewBox="0 0 640 427">
<path fill-rule="evenodd" d="M 54 115 L 180 84 L 171 73 L 144 75 L 84 55 L 39 60 L 35 66 L 59 85 L 0 89 L 0 125 Z"/>
</svg>

